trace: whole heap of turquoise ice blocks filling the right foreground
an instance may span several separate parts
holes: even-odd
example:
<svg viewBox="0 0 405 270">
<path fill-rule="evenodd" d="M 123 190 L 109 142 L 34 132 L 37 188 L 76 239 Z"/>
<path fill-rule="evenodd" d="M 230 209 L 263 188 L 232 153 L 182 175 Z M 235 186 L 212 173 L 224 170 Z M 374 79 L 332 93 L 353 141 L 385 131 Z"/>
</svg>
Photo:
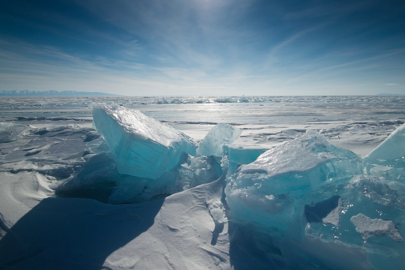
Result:
<svg viewBox="0 0 405 270">
<path fill-rule="evenodd" d="M 225 188 L 231 221 L 271 235 L 283 256 L 293 256 L 297 265 L 332 265 L 331 254 L 345 248 L 347 263 L 336 269 L 357 263 L 364 269 L 400 269 L 405 253 L 403 134 L 405 125 L 361 158 L 307 132 L 239 164 L 227 175 Z"/>
</svg>

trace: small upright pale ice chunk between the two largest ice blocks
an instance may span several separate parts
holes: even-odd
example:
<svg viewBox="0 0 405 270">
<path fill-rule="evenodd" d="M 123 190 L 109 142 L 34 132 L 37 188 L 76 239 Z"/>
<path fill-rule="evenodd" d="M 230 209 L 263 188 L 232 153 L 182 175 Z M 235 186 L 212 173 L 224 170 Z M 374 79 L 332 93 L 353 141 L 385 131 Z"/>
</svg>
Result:
<svg viewBox="0 0 405 270">
<path fill-rule="evenodd" d="M 240 128 L 228 123 L 217 123 L 198 143 L 197 155 L 222 156 L 222 146 L 234 142 L 240 132 Z"/>
</svg>

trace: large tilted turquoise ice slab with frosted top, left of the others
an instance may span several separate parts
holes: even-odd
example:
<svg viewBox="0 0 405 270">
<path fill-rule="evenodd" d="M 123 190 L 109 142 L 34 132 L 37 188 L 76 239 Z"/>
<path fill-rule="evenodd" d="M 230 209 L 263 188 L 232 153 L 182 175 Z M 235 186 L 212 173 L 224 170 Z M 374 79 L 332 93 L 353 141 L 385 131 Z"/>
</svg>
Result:
<svg viewBox="0 0 405 270">
<path fill-rule="evenodd" d="M 115 157 L 119 173 L 158 178 L 179 161 L 182 152 L 195 153 L 189 137 L 136 109 L 115 103 L 91 103 L 93 123 Z"/>
</svg>

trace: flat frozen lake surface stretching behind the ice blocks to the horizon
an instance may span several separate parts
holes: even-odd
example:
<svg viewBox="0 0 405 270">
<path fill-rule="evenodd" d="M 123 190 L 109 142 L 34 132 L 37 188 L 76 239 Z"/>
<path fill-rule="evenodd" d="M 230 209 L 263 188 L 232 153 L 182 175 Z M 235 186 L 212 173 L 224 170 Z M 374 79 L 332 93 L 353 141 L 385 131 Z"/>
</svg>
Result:
<svg viewBox="0 0 405 270">
<path fill-rule="evenodd" d="M 243 99 L 249 102 L 237 102 L 240 99 L 170 96 L 162 102 L 161 97 L 153 96 L 3 97 L 0 121 L 38 127 L 68 123 L 90 127 L 87 105 L 92 101 L 116 101 L 166 122 L 197 141 L 218 122 L 242 129 L 236 143 L 264 148 L 314 129 L 336 146 L 361 155 L 405 121 L 403 96 L 255 96 Z"/>
</svg>

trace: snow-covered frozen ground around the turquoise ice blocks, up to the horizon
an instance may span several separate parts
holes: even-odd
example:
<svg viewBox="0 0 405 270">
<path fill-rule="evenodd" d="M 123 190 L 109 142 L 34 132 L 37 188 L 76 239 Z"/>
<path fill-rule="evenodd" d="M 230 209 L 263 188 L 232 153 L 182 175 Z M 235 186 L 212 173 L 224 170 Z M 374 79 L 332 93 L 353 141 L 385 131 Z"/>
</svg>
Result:
<svg viewBox="0 0 405 270">
<path fill-rule="evenodd" d="M 228 208 L 228 221 L 217 222 L 213 207 L 223 201 L 226 171 L 215 181 L 151 201 L 107 203 L 115 185 L 128 178 L 112 179 L 119 174 L 92 128 L 91 101 L 136 108 L 196 143 L 216 123 L 230 123 L 241 129 L 233 147 L 263 151 L 315 130 L 365 156 L 405 122 L 401 96 L 247 98 L 4 97 L 0 268 L 379 269 L 366 262 L 363 250 L 338 242 L 275 244 L 255 225 L 233 221 Z M 66 179 L 68 188 L 60 188 Z M 405 259 L 403 242 L 395 244 Z M 294 258 L 302 252 L 303 259 Z"/>
</svg>

